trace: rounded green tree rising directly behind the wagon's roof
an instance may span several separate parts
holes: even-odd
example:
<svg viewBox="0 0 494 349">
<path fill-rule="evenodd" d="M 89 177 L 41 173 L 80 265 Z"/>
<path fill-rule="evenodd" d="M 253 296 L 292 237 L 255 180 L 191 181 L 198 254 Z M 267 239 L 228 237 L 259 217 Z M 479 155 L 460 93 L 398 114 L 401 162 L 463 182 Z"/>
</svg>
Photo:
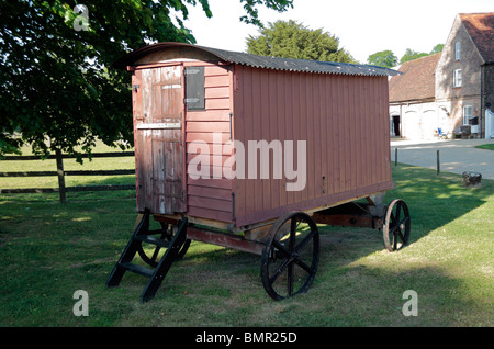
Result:
<svg viewBox="0 0 494 349">
<path fill-rule="evenodd" d="M 277 21 L 259 30 L 258 36 L 247 37 L 247 52 L 273 56 L 323 61 L 355 63 L 339 46 L 339 38 L 322 29 L 311 30 L 295 21 Z"/>
</svg>

